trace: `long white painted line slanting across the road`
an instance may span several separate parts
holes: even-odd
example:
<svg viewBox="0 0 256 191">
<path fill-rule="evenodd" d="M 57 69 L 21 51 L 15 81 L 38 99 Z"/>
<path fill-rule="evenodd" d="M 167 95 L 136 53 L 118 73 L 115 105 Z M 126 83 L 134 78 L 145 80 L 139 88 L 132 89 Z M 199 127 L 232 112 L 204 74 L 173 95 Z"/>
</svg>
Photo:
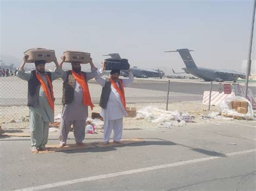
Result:
<svg viewBox="0 0 256 191">
<path fill-rule="evenodd" d="M 238 151 L 238 152 L 228 153 L 225 155 L 227 157 L 231 157 L 234 155 L 252 153 L 254 151 L 256 151 L 256 149 L 246 150 L 246 151 Z M 34 186 L 34 187 L 29 187 L 29 188 L 17 189 L 17 190 L 41 190 L 41 189 L 55 188 L 55 187 L 59 187 L 59 186 L 72 185 L 75 183 L 107 179 L 107 178 L 112 178 L 112 177 L 122 176 L 122 175 L 127 175 L 127 174 L 135 174 L 135 173 L 141 173 L 141 172 L 147 172 L 147 171 L 154 171 L 156 169 L 188 165 L 188 164 L 193 164 L 193 163 L 197 163 L 197 162 L 204 162 L 204 161 L 208 161 L 208 160 L 216 160 L 216 159 L 221 159 L 221 158 L 223 158 L 223 157 L 206 157 L 206 158 L 200 158 L 200 159 L 193 159 L 193 160 L 187 160 L 187 161 L 181 161 L 181 162 L 174 162 L 174 163 L 165 164 L 165 165 L 151 166 L 151 167 L 146 167 L 146 168 L 138 168 L 138 169 L 132 169 L 129 171 L 102 174 L 102 175 L 90 176 L 90 177 L 86 177 L 86 178 L 80 178 L 80 179 L 74 179 L 74 180 L 68 180 L 68 181 L 62 181 L 62 182 L 56 182 L 56 183 L 49 183 L 48 185 Z"/>
</svg>

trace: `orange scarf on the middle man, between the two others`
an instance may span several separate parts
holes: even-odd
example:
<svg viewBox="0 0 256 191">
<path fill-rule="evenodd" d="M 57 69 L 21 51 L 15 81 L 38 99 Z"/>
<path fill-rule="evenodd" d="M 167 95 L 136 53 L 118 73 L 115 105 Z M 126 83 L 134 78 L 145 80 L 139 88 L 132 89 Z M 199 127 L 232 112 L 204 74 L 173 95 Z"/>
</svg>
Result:
<svg viewBox="0 0 256 191">
<path fill-rule="evenodd" d="M 87 85 L 87 83 L 84 79 L 84 75 L 82 73 L 77 74 L 73 70 L 71 70 L 71 73 L 83 89 L 83 104 L 86 105 L 86 106 L 90 105 L 91 110 L 92 110 L 94 105 L 92 104 L 90 91 L 89 91 L 88 85 Z"/>
</svg>

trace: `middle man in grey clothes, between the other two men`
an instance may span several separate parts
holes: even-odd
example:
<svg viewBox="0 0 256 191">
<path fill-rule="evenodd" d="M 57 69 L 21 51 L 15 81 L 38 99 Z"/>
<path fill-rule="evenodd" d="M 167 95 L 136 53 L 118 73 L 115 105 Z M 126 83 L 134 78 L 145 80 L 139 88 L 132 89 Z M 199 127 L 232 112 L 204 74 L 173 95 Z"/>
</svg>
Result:
<svg viewBox="0 0 256 191">
<path fill-rule="evenodd" d="M 60 63 L 62 66 L 65 56 Z M 60 147 L 66 145 L 70 127 L 73 124 L 76 144 L 83 145 L 85 137 L 86 119 L 88 116 L 88 106 L 91 109 L 94 105 L 91 102 L 91 96 L 87 81 L 97 75 L 97 68 L 90 59 L 91 72 L 82 72 L 80 62 L 71 61 L 72 70 L 63 72 L 63 110 L 60 121 L 59 140 Z"/>
</svg>

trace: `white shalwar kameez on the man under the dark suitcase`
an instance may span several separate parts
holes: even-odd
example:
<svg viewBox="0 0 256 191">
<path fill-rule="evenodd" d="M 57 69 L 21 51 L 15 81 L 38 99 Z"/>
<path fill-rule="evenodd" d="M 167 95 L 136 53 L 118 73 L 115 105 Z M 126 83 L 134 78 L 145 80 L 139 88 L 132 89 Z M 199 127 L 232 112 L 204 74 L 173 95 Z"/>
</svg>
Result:
<svg viewBox="0 0 256 191">
<path fill-rule="evenodd" d="M 95 80 L 104 87 L 106 79 L 102 77 L 103 70 L 99 70 Z M 132 72 L 129 73 L 129 79 L 122 79 L 123 86 L 128 87 L 133 81 Z M 119 87 L 118 82 L 116 82 Z M 113 140 L 120 141 L 123 135 L 123 116 L 127 116 L 127 112 L 122 104 L 122 100 L 117 90 L 111 85 L 109 101 L 107 101 L 106 109 L 101 110 L 100 116 L 104 118 L 104 142 L 109 142 L 112 130 L 114 131 Z"/>
</svg>

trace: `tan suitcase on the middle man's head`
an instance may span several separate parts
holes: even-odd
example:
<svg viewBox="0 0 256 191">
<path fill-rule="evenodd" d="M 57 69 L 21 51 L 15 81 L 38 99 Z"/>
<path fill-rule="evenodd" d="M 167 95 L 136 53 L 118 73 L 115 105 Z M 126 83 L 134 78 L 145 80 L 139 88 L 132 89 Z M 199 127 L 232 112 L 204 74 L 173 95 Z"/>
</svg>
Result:
<svg viewBox="0 0 256 191">
<path fill-rule="evenodd" d="M 80 62 L 80 63 L 90 63 L 91 54 L 87 52 L 80 51 L 65 51 L 63 55 L 66 57 L 65 62 Z"/>
</svg>

